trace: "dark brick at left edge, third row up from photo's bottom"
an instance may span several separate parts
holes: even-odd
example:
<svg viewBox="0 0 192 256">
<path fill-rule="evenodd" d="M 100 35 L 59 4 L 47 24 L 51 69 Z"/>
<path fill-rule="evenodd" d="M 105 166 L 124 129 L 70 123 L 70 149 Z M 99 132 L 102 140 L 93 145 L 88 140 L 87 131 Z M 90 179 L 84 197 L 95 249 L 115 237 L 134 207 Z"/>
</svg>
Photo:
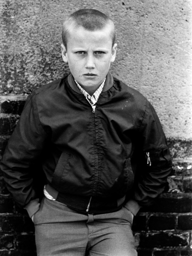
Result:
<svg viewBox="0 0 192 256">
<path fill-rule="evenodd" d="M 22 232 L 24 221 L 22 216 L 0 216 L 0 230 L 2 232 Z"/>
</svg>

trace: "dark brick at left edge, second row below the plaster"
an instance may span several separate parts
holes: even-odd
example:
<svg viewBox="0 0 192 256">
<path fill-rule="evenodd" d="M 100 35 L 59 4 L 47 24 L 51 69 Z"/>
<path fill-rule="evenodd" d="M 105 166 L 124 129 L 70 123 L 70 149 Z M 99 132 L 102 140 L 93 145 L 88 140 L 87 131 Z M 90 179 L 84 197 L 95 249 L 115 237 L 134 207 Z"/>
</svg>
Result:
<svg viewBox="0 0 192 256">
<path fill-rule="evenodd" d="M 18 119 L 18 115 L 0 114 L 0 135 L 10 135 Z"/>
</svg>

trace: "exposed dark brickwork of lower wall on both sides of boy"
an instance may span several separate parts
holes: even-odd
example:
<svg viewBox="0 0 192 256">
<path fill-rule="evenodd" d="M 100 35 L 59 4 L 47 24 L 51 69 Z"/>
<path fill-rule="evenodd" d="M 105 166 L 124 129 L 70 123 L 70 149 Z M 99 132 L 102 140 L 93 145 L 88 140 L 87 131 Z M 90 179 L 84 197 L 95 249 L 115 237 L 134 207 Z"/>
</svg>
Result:
<svg viewBox="0 0 192 256">
<path fill-rule="evenodd" d="M 0 96 L 1 155 L 25 103 L 24 95 Z M 192 255 L 192 141 L 168 139 L 174 168 L 169 187 L 134 219 L 138 256 Z M 35 254 L 34 225 L 11 199 L 0 171 L 0 256 Z"/>
</svg>

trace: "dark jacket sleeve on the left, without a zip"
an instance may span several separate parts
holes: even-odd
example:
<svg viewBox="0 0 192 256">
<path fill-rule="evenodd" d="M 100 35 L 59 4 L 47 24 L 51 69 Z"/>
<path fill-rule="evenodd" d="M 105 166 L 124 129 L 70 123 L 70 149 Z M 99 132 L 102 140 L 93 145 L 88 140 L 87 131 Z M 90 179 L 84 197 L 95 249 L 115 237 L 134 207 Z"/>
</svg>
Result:
<svg viewBox="0 0 192 256">
<path fill-rule="evenodd" d="M 38 162 L 47 137 L 39 120 L 35 94 L 32 94 L 25 102 L 0 165 L 9 192 L 22 207 L 39 198 L 34 176 L 40 178 L 41 173 L 38 173 L 35 163 Z"/>
</svg>

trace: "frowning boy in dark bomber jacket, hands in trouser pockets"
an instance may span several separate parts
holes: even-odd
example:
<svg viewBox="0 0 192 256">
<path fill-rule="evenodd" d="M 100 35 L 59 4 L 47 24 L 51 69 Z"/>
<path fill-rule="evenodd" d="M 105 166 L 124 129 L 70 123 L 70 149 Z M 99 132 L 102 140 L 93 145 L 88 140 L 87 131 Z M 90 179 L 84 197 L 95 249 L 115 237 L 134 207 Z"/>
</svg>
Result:
<svg viewBox="0 0 192 256">
<path fill-rule="evenodd" d="M 171 171 L 162 126 L 144 96 L 109 72 L 111 19 L 79 10 L 62 38 L 71 74 L 28 97 L 1 163 L 7 187 L 34 221 L 38 255 L 137 255 L 133 216 Z"/>
</svg>

